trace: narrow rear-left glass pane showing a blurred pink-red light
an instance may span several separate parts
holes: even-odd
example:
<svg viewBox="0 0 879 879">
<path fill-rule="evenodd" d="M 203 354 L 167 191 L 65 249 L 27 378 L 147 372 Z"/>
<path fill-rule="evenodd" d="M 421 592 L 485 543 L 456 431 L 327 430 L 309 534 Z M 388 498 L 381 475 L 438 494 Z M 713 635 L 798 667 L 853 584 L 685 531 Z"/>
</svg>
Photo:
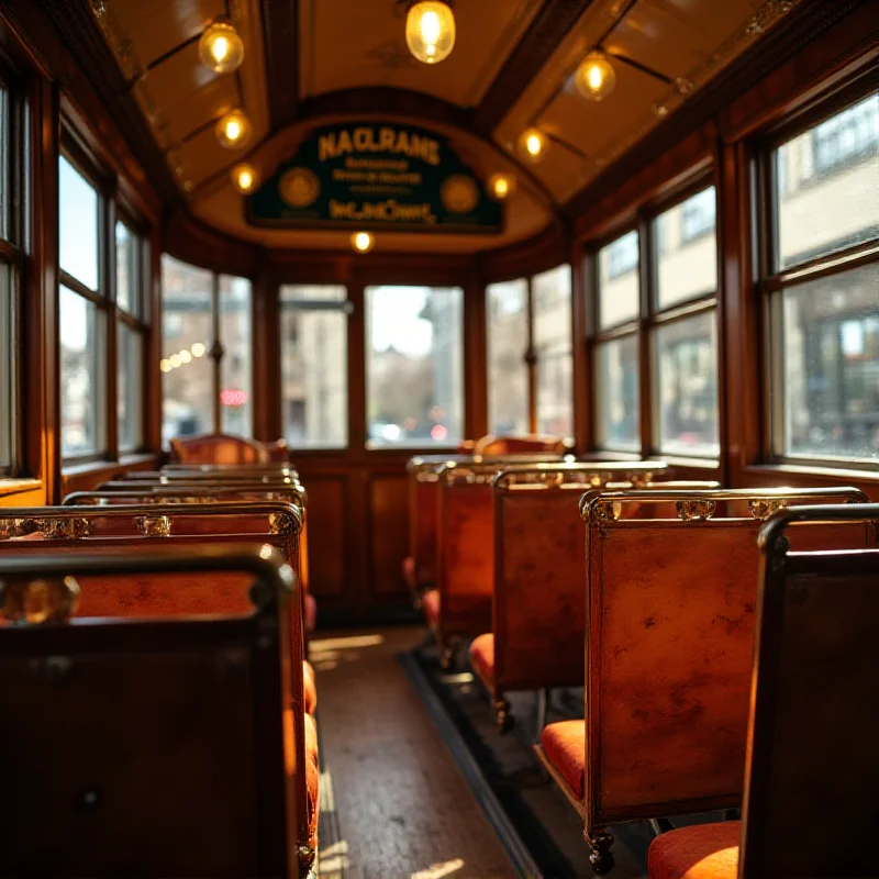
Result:
<svg viewBox="0 0 879 879">
<path fill-rule="evenodd" d="M 225 354 L 220 369 L 220 427 L 251 436 L 253 422 L 253 334 L 251 281 L 220 276 L 220 340 Z"/>
</svg>

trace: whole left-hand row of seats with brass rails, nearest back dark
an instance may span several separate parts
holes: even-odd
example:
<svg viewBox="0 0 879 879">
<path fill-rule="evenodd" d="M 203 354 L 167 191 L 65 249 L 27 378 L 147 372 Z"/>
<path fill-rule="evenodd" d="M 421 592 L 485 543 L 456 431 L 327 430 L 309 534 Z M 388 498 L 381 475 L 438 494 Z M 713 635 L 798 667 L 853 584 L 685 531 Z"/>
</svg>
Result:
<svg viewBox="0 0 879 879">
<path fill-rule="evenodd" d="M 174 445 L 160 471 L 3 511 L 4 876 L 313 865 L 307 494 L 249 441 Z"/>
</svg>

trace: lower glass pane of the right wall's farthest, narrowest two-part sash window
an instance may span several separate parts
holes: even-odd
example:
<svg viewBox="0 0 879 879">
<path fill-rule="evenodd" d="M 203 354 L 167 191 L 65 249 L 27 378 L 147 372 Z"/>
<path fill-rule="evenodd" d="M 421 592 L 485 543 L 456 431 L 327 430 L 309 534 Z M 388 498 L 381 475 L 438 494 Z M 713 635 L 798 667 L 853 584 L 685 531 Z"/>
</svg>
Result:
<svg viewBox="0 0 879 879">
<path fill-rule="evenodd" d="M 597 351 L 598 444 L 603 448 L 641 449 L 638 340 L 602 343 Z"/>
</svg>

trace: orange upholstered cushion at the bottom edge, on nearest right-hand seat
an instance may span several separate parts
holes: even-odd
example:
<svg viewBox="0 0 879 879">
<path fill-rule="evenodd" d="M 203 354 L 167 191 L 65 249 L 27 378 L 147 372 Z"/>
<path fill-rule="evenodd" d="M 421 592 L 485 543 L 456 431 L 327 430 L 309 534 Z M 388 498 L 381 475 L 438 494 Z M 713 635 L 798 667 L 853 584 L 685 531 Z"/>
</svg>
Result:
<svg viewBox="0 0 879 879">
<path fill-rule="evenodd" d="M 736 879 L 741 828 L 724 821 L 657 836 L 647 854 L 649 879 Z"/>
</svg>

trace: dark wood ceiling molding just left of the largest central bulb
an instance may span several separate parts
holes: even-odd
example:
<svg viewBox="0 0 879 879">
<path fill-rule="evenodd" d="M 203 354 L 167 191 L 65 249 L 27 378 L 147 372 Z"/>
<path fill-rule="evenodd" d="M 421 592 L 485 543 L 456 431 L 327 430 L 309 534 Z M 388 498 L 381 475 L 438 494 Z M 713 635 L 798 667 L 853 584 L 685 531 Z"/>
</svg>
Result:
<svg viewBox="0 0 879 879">
<path fill-rule="evenodd" d="M 266 87 L 272 132 L 296 122 L 299 105 L 299 3 L 260 0 Z"/>
</svg>

